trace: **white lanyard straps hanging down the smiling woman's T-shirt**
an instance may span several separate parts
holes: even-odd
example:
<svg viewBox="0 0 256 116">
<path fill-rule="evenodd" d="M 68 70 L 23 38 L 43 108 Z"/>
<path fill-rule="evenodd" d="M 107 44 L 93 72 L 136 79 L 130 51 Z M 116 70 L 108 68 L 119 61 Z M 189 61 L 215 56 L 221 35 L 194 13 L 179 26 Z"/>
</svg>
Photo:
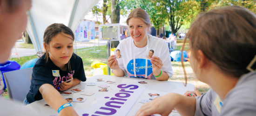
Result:
<svg viewBox="0 0 256 116">
<path fill-rule="evenodd" d="M 147 35 L 147 37 L 148 37 L 148 35 Z M 147 42 L 147 50 L 146 50 L 146 52 L 148 51 L 148 45 L 149 45 L 149 38 L 148 38 L 148 42 Z M 135 53 L 135 44 L 133 43 L 133 53 L 134 53 L 134 55 L 133 55 L 133 71 L 134 71 L 134 76 L 135 77 L 137 77 L 136 76 L 136 63 L 135 63 L 135 55 L 136 55 L 136 53 Z M 146 60 L 146 68 L 145 68 L 145 78 L 148 78 L 148 58 L 144 58 L 145 60 Z"/>
</svg>

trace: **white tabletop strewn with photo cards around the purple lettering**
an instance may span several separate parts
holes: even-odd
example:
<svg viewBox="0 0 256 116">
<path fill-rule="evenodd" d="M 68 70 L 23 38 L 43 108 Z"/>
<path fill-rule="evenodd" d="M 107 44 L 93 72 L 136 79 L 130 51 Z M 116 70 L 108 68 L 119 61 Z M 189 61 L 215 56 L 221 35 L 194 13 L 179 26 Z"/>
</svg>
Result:
<svg viewBox="0 0 256 116">
<path fill-rule="evenodd" d="M 81 95 L 81 93 L 74 93 L 71 96 L 65 96 L 62 95 L 64 98 L 75 98 L 75 97 L 85 97 L 87 98 L 84 103 L 75 103 L 71 102 L 74 110 L 84 110 L 88 109 L 91 105 L 96 103 L 97 101 L 95 100 L 95 97 L 102 96 L 106 94 L 107 92 L 100 92 L 98 91 L 100 87 L 99 85 L 107 84 L 111 85 L 105 82 L 96 82 L 96 78 L 103 78 L 104 81 L 110 80 L 110 81 L 115 81 L 115 83 L 138 83 L 139 81 L 146 81 L 148 84 L 143 84 L 146 86 L 146 90 L 143 91 L 135 105 L 132 107 L 132 109 L 129 111 L 127 116 L 133 116 L 133 113 L 135 110 L 138 110 L 143 103 L 139 103 L 140 100 L 142 99 L 149 99 L 152 98 L 148 96 L 148 93 L 158 93 L 165 95 L 169 92 L 174 92 L 174 93 L 179 93 L 179 94 L 184 94 L 187 90 L 193 91 L 194 90 L 194 85 L 193 84 L 187 84 L 187 87 L 185 87 L 182 83 L 180 82 L 171 82 L 171 81 L 157 81 L 157 80 L 152 80 L 152 79 L 140 79 L 140 78 L 129 78 L 129 77 L 115 77 L 115 76 L 108 76 L 108 75 L 96 75 L 94 77 L 90 77 L 87 79 L 86 82 L 81 82 L 81 84 L 78 84 L 74 86 L 73 88 L 70 88 L 66 91 L 71 91 L 72 89 L 79 88 L 79 89 L 84 89 L 85 91 L 88 92 L 94 92 L 94 95 L 92 96 L 85 96 Z M 95 86 L 87 86 L 86 84 L 94 82 L 96 83 Z M 109 88 L 109 87 L 108 87 Z M 111 89 L 109 88 L 110 92 Z M 47 104 L 44 99 L 40 101 L 36 101 L 34 103 L 28 104 L 28 107 L 32 107 L 36 112 L 41 114 L 42 116 L 49 116 L 49 115 L 58 115 L 58 113 L 51 108 L 47 108 L 44 105 Z M 27 107 L 26 106 L 26 107 Z M 179 116 L 177 115 L 178 113 L 172 112 L 169 116 Z"/>
</svg>

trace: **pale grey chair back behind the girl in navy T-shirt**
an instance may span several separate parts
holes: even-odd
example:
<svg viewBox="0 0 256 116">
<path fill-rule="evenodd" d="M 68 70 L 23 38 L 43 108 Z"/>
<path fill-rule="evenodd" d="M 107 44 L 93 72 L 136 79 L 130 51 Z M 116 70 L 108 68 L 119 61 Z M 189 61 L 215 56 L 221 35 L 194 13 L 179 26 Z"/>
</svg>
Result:
<svg viewBox="0 0 256 116">
<path fill-rule="evenodd" d="M 32 71 L 33 67 L 4 73 L 9 100 L 23 102 L 30 90 Z"/>
</svg>

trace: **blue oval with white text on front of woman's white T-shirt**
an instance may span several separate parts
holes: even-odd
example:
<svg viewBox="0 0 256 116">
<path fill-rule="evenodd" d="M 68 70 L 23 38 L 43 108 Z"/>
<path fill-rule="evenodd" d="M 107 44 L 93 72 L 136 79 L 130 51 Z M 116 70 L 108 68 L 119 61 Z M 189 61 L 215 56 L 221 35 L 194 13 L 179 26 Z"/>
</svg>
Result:
<svg viewBox="0 0 256 116">
<path fill-rule="evenodd" d="M 153 71 L 152 71 L 152 64 L 150 62 L 149 59 L 148 60 L 148 75 L 150 75 Z M 135 68 L 136 68 L 136 75 L 144 75 L 145 74 L 145 68 L 146 68 L 146 59 L 135 59 Z M 130 60 L 130 62 L 127 64 L 127 71 L 130 74 L 134 75 L 134 71 L 133 71 L 133 59 Z"/>
</svg>

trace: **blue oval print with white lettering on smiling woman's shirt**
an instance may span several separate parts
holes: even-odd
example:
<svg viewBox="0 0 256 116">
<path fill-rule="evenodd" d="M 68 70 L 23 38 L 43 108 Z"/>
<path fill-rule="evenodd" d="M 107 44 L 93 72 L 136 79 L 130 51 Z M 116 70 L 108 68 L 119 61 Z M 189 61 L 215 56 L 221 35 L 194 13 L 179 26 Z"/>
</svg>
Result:
<svg viewBox="0 0 256 116">
<path fill-rule="evenodd" d="M 148 59 L 147 59 L 148 60 Z M 129 61 L 129 63 L 127 64 L 127 74 L 129 77 L 134 77 L 134 63 L 133 63 L 133 59 Z M 145 78 L 145 71 L 146 71 L 146 59 L 135 59 L 135 70 L 136 70 L 136 76 L 138 78 Z M 148 72 L 147 72 L 147 78 L 148 79 L 152 79 L 153 77 L 153 71 L 152 71 L 152 63 L 150 62 L 150 60 L 148 60 Z"/>
</svg>

